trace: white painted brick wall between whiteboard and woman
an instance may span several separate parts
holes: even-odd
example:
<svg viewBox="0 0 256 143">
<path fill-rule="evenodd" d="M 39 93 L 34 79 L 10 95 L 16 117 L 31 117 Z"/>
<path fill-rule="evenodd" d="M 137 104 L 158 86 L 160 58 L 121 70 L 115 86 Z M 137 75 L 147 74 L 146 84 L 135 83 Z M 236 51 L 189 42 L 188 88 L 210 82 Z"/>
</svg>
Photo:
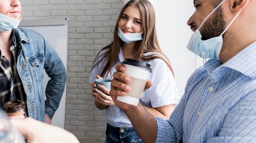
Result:
<svg viewBox="0 0 256 143">
<path fill-rule="evenodd" d="M 81 143 L 105 143 L 106 119 L 88 84 L 92 62 L 112 41 L 124 0 L 20 0 L 22 20 L 70 18 L 65 129 Z"/>
</svg>

